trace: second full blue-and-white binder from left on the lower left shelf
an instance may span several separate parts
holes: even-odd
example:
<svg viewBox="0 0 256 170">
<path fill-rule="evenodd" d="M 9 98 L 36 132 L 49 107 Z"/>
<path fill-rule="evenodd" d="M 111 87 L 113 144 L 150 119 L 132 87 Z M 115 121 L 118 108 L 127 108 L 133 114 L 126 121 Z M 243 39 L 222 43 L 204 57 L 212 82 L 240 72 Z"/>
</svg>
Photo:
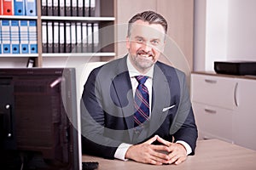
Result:
<svg viewBox="0 0 256 170">
<path fill-rule="evenodd" d="M 11 53 L 20 54 L 20 26 L 19 20 L 11 20 L 10 26 L 10 42 L 11 42 Z"/>
</svg>

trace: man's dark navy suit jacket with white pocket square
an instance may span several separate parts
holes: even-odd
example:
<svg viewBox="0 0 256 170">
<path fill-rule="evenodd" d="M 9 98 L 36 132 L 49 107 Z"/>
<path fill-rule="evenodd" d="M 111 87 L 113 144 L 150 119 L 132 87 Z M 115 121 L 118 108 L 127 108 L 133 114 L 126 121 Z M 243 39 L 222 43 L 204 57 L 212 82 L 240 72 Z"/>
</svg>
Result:
<svg viewBox="0 0 256 170">
<path fill-rule="evenodd" d="M 113 60 L 91 71 L 84 85 L 83 153 L 113 159 L 119 144 L 142 143 L 158 134 L 168 141 L 185 141 L 193 155 L 197 128 L 183 72 L 160 62 L 154 65 L 150 121 L 143 128 L 134 128 L 133 94 L 126 59 L 127 56 Z"/>
</svg>

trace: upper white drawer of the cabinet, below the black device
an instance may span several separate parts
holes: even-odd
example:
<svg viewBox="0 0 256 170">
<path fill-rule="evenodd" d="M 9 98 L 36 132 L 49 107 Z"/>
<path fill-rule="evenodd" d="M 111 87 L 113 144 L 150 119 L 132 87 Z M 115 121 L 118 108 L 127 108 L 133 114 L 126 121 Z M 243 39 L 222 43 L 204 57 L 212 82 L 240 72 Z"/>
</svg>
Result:
<svg viewBox="0 0 256 170">
<path fill-rule="evenodd" d="M 191 75 L 192 101 L 233 109 L 237 83 L 235 78 Z"/>
</svg>

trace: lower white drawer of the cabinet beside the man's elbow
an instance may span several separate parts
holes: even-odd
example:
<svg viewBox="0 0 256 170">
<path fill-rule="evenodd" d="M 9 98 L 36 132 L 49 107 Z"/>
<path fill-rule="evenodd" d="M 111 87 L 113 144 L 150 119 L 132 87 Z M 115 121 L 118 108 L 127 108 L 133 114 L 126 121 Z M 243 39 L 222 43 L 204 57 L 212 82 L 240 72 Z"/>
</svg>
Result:
<svg viewBox="0 0 256 170">
<path fill-rule="evenodd" d="M 203 138 L 233 141 L 233 111 L 193 102 L 195 122 Z"/>
</svg>

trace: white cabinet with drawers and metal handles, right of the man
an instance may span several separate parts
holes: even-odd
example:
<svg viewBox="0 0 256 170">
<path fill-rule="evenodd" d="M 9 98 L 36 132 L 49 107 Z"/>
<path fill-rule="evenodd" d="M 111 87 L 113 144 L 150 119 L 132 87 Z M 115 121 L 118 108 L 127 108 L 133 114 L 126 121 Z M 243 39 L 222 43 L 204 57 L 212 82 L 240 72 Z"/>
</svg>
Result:
<svg viewBox="0 0 256 170">
<path fill-rule="evenodd" d="M 223 139 L 256 150 L 256 78 L 193 73 L 191 100 L 199 139 Z"/>
</svg>

